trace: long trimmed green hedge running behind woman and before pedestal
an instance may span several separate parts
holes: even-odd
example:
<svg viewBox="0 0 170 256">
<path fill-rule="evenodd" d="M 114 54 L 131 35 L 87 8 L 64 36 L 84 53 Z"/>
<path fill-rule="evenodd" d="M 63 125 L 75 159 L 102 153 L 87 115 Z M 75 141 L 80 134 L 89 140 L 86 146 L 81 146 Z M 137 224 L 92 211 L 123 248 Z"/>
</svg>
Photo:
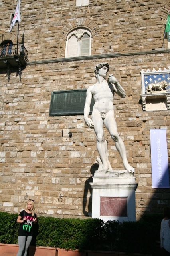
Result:
<svg viewBox="0 0 170 256">
<path fill-rule="evenodd" d="M 18 243 L 18 214 L 0 212 L 0 242 Z M 38 234 L 32 240 L 36 246 L 63 249 L 108 250 L 152 253 L 160 237 L 159 214 L 142 216 L 136 222 L 103 222 L 100 219 L 38 217 Z"/>
</svg>

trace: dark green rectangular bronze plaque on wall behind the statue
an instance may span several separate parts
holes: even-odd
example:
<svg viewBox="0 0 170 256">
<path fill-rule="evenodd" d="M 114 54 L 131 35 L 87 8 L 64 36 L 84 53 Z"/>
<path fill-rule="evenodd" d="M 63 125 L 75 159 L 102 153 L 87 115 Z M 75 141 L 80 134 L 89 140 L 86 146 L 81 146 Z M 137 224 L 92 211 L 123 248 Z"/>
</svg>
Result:
<svg viewBox="0 0 170 256">
<path fill-rule="evenodd" d="M 49 116 L 83 115 L 86 89 L 65 90 L 51 93 Z M 94 100 L 90 105 L 90 114 L 93 110 Z"/>
</svg>

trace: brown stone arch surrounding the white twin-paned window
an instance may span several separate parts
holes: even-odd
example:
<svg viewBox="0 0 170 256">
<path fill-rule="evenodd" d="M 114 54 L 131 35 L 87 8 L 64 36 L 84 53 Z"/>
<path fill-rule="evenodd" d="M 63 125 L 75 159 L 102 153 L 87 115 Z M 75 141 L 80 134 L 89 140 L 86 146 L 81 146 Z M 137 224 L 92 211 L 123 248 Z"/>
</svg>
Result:
<svg viewBox="0 0 170 256">
<path fill-rule="evenodd" d="M 93 20 L 90 20 L 88 18 L 75 18 L 74 20 L 71 20 L 68 22 L 65 26 L 63 26 L 59 38 L 59 52 L 58 57 L 64 57 L 65 56 L 65 44 L 66 44 L 66 38 L 69 32 L 71 30 L 74 30 L 75 28 L 87 28 L 92 35 L 92 52 L 93 52 L 93 43 L 95 40 L 95 36 L 99 34 L 99 26 L 96 22 Z"/>
</svg>

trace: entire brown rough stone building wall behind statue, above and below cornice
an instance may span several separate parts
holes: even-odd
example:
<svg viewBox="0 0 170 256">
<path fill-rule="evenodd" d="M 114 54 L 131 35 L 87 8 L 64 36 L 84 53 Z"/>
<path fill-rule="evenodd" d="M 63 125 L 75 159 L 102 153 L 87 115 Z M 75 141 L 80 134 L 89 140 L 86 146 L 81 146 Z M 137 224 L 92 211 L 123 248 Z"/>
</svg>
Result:
<svg viewBox="0 0 170 256">
<path fill-rule="evenodd" d="M 2 0 L 3 40 L 16 40 L 16 25 L 8 34 L 15 4 Z M 99 62 L 109 62 L 109 72 L 127 94 L 125 99 L 115 96 L 115 118 L 138 182 L 136 217 L 147 211 L 162 212 L 162 207 L 170 203 L 169 189 L 152 189 L 150 163 L 150 128 L 166 128 L 170 148 L 169 111 L 143 112 L 140 102 L 140 70 L 164 69 L 170 63 L 169 52 L 140 54 L 162 47 L 164 6 L 168 8 L 164 0 L 89 0 L 89 6 L 79 8 L 74 0 L 22 1 L 20 39 L 25 28 L 24 45 L 30 64 L 22 70 L 21 82 L 16 72 L 8 82 L 6 71 L 0 70 L 1 211 L 19 212 L 27 193 L 36 201 L 38 214 L 65 218 L 85 218 L 87 212 L 90 215 L 89 182 L 97 156 L 94 131 L 85 126 L 81 115 L 49 116 L 49 106 L 52 91 L 85 89 L 94 84 L 94 68 Z M 98 54 L 95 59 L 34 62 L 63 58 L 67 33 L 76 25 L 91 30 L 92 55 Z M 100 58 L 100 54 L 113 52 L 125 56 Z M 138 55 L 128 56 L 127 52 Z M 122 169 L 108 133 L 107 140 L 111 166 Z M 62 202 L 58 201 L 60 196 Z"/>
</svg>

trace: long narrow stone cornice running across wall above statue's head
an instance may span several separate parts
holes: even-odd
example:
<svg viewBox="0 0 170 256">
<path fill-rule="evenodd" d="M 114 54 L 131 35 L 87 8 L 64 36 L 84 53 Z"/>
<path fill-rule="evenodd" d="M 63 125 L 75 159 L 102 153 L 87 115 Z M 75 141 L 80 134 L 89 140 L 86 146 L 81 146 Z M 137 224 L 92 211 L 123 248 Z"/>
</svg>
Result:
<svg viewBox="0 0 170 256">
<path fill-rule="evenodd" d="M 103 58 L 117 58 L 123 56 L 135 56 L 135 55 L 145 55 L 145 54 L 160 54 L 160 53 L 170 53 L 170 49 L 153 50 L 153 51 L 143 51 L 143 52 L 126 52 L 126 53 L 106 53 L 106 54 L 96 54 L 89 56 L 71 57 L 71 58 L 57 58 L 57 59 L 47 59 L 47 60 L 35 60 L 27 62 L 27 65 L 37 65 L 37 64 L 47 64 L 47 63 L 57 63 L 57 62 L 71 62 L 71 61 L 81 61 L 81 60 L 94 60 Z"/>
</svg>

